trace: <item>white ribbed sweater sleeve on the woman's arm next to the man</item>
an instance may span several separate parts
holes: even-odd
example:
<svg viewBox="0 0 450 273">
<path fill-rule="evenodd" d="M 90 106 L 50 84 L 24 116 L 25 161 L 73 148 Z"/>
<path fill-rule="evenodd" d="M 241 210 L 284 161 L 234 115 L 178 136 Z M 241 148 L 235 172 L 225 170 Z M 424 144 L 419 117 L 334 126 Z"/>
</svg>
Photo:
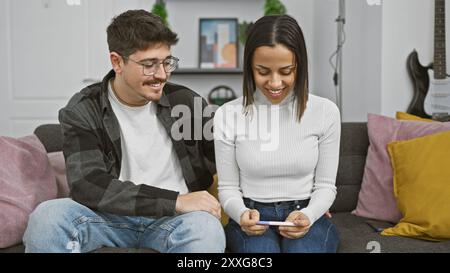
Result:
<svg viewBox="0 0 450 273">
<path fill-rule="evenodd" d="M 216 153 L 217 175 L 219 178 L 219 200 L 225 213 L 238 224 L 242 213 L 247 210 L 242 199 L 239 183 L 239 167 L 236 162 L 235 121 L 232 105 L 219 108 L 214 116 L 214 148 Z M 231 111 L 233 112 L 233 111 Z"/>
</svg>

